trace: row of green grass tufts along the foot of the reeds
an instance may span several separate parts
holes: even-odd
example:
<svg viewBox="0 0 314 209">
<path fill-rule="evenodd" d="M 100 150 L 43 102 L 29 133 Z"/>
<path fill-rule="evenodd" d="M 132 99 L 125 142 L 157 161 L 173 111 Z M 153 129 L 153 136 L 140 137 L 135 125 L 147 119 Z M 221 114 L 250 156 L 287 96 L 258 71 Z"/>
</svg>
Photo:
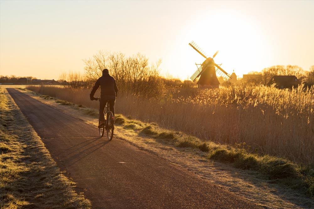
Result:
<svg viewBox="0 0 314 209">
<path fill-rule="evenodd" d="M 287 185 L 314 197 L 314 165 L 297 165 L 287 159 L 252 153 L 248 151 L 249 147 L 245 143 L 227 146 L 202 141 L 182 132 L 160 128 L 156 123 L 143 123 L 122 115 L 116 116 L 116 124 L 176 147 L 198 149 L 205 152 L 208 159 L 232 163 L 236 168 L 243 170 L 258 171 L 273 183 Z"/>
</svg>

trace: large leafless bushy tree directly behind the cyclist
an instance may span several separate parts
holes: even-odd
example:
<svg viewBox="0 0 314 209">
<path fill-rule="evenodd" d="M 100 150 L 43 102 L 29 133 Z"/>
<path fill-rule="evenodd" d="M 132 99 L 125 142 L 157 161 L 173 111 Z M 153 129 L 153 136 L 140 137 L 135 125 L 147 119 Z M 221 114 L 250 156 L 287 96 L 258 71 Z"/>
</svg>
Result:
<svg viewBox="0 0 314 209">
<path fill-rule="evenodd" d="M 126 57 L 121 52 L 99 51 L 89 60 L 83 61 L 85 76 L 91 85 L 102 75 L 102 70 L 108 68 L 122 93 L 157 97 L 164 90 L 160 78 L 161 59 L 149 65 L 148 58 L 140 53 Z"/>
</svg>

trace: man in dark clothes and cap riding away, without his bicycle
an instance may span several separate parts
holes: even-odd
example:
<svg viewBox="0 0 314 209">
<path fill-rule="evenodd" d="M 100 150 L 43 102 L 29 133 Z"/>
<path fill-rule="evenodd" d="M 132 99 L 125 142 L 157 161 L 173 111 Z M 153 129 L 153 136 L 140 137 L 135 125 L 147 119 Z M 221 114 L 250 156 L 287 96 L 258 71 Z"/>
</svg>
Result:
<svg viewBox="0 0 314 209">
<path fill-rule="evenodd" d="M 90 100 L 96 100 L 94 97 L 95 92 L 100 86 L 100 105 L 99 105 L 99 124 L 98 128 L 105 125 L 104 109 L 107 101 L 109 101 L 110 111 L 115 116 L 115 102 L 118 96 L 118 87 L 116 80 L 109 75 L 109 70 L 104 69 L 102 76 L 96 81 L 92 91 L 89 94 Z"/>
</svg>

